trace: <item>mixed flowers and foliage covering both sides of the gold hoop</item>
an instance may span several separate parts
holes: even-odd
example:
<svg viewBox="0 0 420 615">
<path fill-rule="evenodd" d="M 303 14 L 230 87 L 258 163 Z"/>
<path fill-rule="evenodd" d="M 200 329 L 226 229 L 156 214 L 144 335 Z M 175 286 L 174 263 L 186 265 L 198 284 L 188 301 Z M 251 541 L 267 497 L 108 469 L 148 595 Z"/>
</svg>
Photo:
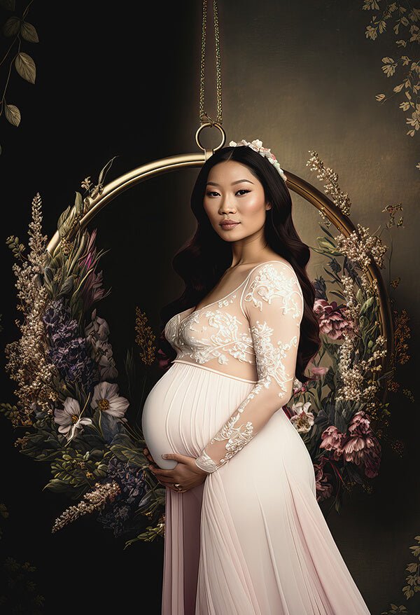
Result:
<svg viewBox="0 0 420 615">
<path fill-rule="evenodd" d="M 348 212 L 337 176 L 323 168 L 316 153 L 309 163 L 318 178 L 328 178 L 325 190 Z M 42 234 L 39 194 L 31 205 L 28 256 L 18 237 L 6 240 L 18 261 L 13 271 L 24 319 L 15 321 L 20 338 L 6 346 L 6 371 L 17 382 L 17 402 L 1 403 L 0 411 L 16 429 L 26 430 L 15 440 L 20 452 L 50 464 L 52 478 L 45 488 L 75 502 L 55 520 L 52 532 L 97 513 L 104 528 L 126 539 L 126 548 L 165 533 L 165 488 L 148 470 L 137 419 L 151 366 L 169 365 L 162 352 L 156 353 L 155 334 L 137 308 L 139 352 L 127 350 L 123 378 L 113 359 L 109 326 L 92 307 L 109 294 L 102 271 L 96 271 L 104 253 L 97 253 L 96 230 L 88 233 L 78 221 L 102 190 L 110 166 L 96 186 L 90 177 L 83 180 L 85 197 L 76 192 L 74 206 L 59 217 L 60 241 L 52 254 Z M 398 384 L 392 380 L 394 370 L 377 376 L 386 340 L 379 333 L 377 289 L 365 273 L 372 259 L 382 266 L 386 247 L 360 226 L 349 237 L 333 237 L 321 228 L 317 251 L 328 258 L 329 279 L 314 281 L 314 311 L 323 344 L 308 366 L 310 380 L 293 390 L 285 410 L 314 461 L 318 501 L 333 497 L 338 510 L 343 488 L 369 490 L 378 474 L 379 439 L 390 414 L 379 392 L 385 385 L 396 390 Z M 328 291 L 327 284 L 335 290 Z M 394 311 L 394 317 L 400 345 L 393 361 L 403 363 L 409 333 L 405 315 Z M 400 451 L 399 442 L 391 445 Z"/>
</svg>

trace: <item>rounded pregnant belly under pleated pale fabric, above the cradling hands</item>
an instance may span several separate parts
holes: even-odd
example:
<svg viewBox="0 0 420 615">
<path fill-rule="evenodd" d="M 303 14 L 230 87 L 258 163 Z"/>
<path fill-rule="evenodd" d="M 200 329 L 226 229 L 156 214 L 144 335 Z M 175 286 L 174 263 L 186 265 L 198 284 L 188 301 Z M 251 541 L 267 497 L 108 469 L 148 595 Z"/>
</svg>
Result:
<svg viewBox="0 0 420 615">
<path fill-rule="evenodd" d="M 174 363 L 156 382 L 141 417 L 146 445 L 163 469 L 176 466 L 165 452 L 198 457 L 251 391 L 253 384 L 200 366 Z"/>
</svg>

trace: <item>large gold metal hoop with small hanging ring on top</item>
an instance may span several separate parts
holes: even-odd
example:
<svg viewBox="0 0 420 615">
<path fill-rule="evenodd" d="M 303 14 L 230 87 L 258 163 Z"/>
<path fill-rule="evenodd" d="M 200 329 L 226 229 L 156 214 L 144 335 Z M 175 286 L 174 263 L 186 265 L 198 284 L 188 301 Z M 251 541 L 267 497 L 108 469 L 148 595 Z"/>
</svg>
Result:
<svg viewBox="0 0 420 615">
<path fill-rule="evenodd" d="M 215 126 L 222 134 L 221 144 L 219 144 L 216 148 L 207 149 L 200 143 L 200 132 L 204 127 L 213 126 Z M 76 228 L 84 228 L 87 223 L 94 218 L 94 216 L 97 216 L 97 214 L 99 214 L 99 212 L 109 204 L 109 202 L 126 191 L 128 188 L 136 186 L 141 181 L 146 181 L 146 179 L 149 179 L 150 177 L 156 177 L 170 171 L 177 171 L 188 167 L 201 167 L 217 149 L 223 147 L 225 140 L 225 131 L 220 124 L 216 122 L 202 124 L 195 134 L 195 141 L 197 145 L 202 148 L 203 152 L 185 153 L 179 154 L 179 156 L 169 156 L 168 158 L 153 160 L 151 163 L 141 165 L 132 171 L 117 177 L 113 181 L 110 181 L 109 184 L 106 184 L 106 186 L 100 186 L 99 193 L 94 198 L 85 198 L 84 202 L 85 204 L 87 203 L 87 207 L 85 206 L 84 209 L 85 214 L 77 221 Z M 337 207 L 337 205 L 335 205 L 335 203 L 333 203 L 332 200 L 330 200 L 326 195 L 289 170 L 285 169 L 284 172 L 288 178 L 286 185 L 289 190 L 297 193 L 304 198 L 304 200 L 311 203 L 311 205 L 314 205 L 314 207 L 316 207 L 316 209 L 320 212 L 323 212 L 325 217 L 330 220 L 330 222 L 335 226 L 335 228 L 337 228 L 337 230 L 339 230 L 340 233 L 343 233 L 345 237 L 348 237 L 353 230 L 356 230 L 349 218 L 345 216 L 339 207 Z M 55 249 L 57 249 L 59 242 L 60 238 L 57 230 L 47 246 L 47 250 L 51 255 L 54 253 Z M 374 263 L 374 261 L 372 261 L 367 268 L 367 276 L 370 278 L 371 282 L 373 279 L 377 280 L 381 335 L 386 338 L 387 351 L 386 356 L 382 359 L 382 367 L 385 370 L 388 370 L 391 365 L 391 357 L 394 352 L 393 322 L 389 297 L 386 292 L 384 279 L 381 276 L 379 267 L 376 263 Z M 384 387 L 384 399 L 385 398 L 386 387 Z"/>
</svg>

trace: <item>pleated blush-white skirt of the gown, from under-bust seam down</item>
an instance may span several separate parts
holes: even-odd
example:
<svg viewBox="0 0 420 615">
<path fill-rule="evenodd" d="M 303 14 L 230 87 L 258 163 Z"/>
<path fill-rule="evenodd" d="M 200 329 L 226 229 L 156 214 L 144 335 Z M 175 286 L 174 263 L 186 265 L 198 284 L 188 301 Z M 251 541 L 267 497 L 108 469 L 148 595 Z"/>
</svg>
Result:
<svg viewBox="0 0 420 615">
<path fill-rule="evenodd" d="M 174 361 L 144 407 L 153 458 L 200 455 L 254 384 Z M 370 615 L 281 409 L 202 485 L 166 490 L 164 553 L 162 615 Z"/>
</svg>

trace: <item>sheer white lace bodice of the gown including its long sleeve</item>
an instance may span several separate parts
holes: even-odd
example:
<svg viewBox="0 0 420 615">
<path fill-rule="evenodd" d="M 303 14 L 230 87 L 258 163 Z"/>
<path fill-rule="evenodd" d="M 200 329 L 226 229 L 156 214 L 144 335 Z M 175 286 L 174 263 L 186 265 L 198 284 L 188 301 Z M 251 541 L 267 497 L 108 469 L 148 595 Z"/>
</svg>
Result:
<svg viewBox="0 0 420 615">
<path fill-rule="evenodd" d="M 221 467 L 290 399 L 293 385 L 299 384 L 295 366 L 303 308 L 293 267 L 266 261 L 225 297 L 199 310 L 188 308 L 167 322 L 165 336 L 177 351 L 174 361 L 255 383 L 196 459 L 202 469 Z"/>
</svg>

